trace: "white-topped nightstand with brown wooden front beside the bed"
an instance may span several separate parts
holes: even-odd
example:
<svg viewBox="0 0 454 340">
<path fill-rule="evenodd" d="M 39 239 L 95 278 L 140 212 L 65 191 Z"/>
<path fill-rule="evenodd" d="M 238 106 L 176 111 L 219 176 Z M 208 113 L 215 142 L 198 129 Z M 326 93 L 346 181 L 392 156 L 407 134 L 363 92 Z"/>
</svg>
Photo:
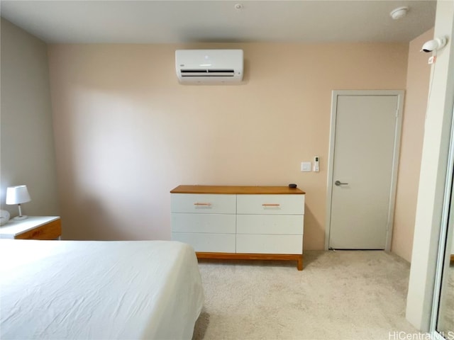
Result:
<svg viewBox="0 0 454 340">
<path fill-rule="evenodd" d="M 9 220 L 0 227 L 0 239 L 60 239 L 59 216 L 28 216 L 26 220 Z"/>
</svg>

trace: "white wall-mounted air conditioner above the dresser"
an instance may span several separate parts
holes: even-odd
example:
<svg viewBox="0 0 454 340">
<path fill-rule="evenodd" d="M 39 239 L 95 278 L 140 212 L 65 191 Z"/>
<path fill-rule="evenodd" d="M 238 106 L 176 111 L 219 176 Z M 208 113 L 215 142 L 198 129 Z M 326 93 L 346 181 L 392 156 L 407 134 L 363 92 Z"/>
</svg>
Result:
<svg viewBox="0 0 454 340">
<path fill-rule="evenodd" d="M 175 67 L 183 84 L 238 83 L 243 80 L 243 50 L 176 50 Z"/>
</svg>

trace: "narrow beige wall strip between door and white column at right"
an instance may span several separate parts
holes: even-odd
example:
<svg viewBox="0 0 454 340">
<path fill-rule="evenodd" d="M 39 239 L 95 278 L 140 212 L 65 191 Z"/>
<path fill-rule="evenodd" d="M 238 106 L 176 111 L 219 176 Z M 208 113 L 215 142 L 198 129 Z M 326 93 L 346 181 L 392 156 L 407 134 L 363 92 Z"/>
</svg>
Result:
<svg viewBox="0 0 454 340">
<path fill-rule="evenodd" d="M 431 39 L 433 39 L 433 29 L 415 38 L 409 45 L 404 122 L 391 246 L 391 250 L 406 261 L 411 261 L 424 119 L 431 76 L 431 67 L 427 63 L 430 55 L 420 50 L 423 43 Z"/>
</svg>

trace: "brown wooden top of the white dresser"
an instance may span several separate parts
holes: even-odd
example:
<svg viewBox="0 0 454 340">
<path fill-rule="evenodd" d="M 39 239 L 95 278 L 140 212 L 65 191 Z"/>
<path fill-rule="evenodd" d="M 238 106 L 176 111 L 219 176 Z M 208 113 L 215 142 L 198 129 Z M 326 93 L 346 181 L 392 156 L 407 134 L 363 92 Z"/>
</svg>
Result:
<svg viewBox="0 0 454 340">
<path fill-rule="evenodd" d="M 177 186 L 170 193 L 227 193 L 227 194 L 272 194 L 272 195 L 304 195 L 299 188 L 288 186 Z"/>
</svg>

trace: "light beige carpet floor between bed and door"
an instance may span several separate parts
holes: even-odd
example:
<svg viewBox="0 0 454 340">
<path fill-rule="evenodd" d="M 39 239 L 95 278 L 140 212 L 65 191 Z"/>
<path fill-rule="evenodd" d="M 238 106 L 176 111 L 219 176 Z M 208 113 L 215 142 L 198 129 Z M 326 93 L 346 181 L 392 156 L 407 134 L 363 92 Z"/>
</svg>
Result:
<svg viewBox="0 0 454 340">
<path fill-rule="evenodd" d="M 194 340 L 418 334 L 405 319 L 410 265 L 394 254 L 305 251 L 303 271 L 284 261 L 212 260 L 199 268 L 205 305 Z"/>
</svg>

